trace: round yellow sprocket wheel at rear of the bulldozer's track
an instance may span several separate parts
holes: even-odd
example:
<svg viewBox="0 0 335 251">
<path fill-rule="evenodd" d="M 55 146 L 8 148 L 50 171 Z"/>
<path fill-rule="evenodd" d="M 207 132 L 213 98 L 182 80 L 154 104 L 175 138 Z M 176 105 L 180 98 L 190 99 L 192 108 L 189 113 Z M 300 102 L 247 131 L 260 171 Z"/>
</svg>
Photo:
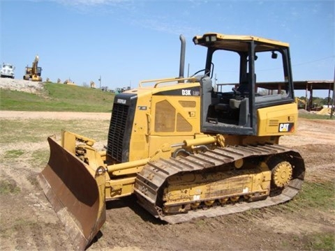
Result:
<svg viewBox="0 0 335 251">
<path fill-rule="evenodd" d="M 277 188 L 284 188 L 292 178 L 292 165 L 288 161 L 279 162 L 272 169 L 272 181 Z"/>
</svg>

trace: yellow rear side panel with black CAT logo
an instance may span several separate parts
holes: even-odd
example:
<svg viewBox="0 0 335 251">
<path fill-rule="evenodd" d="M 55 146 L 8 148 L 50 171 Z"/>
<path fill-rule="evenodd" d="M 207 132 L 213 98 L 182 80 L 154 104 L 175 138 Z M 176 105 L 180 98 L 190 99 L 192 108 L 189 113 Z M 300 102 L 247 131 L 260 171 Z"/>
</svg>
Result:
<svg viewBox="0 0 335 251">
<path fill-rule="evenodd" d="M 258 136 L 292 135 L 298 119 L 297 104 L 277 105 L 257 110 Z"/>
</svg>

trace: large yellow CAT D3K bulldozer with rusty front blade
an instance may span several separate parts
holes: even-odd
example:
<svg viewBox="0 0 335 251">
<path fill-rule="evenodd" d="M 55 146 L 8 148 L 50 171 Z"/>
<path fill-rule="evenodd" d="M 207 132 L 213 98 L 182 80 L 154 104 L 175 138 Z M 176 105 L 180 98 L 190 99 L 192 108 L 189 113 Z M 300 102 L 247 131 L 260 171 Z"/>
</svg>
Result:
<svg viewBox="0 0 335 251">
<path fill-rule="evenodd" d="M 288 43 L 204 33 L 193 38 L 207 50 L 204 68 L 184 77 L 180 40 L 179 76 L 114 97 L 105 149 L 67 130 L 47 139 L 38 181 L 78 250 L 101 229 L 106 202 L 121 197 L 176 224 L 281 204 L 301 189 L 304 159 L 279 144 L 298 117 Z M 276 81 L 256 81 L 269 78 L 261 75 L 271 61 Z M 214 88 L 222 72 L 231 90 Z"/>
</svg>

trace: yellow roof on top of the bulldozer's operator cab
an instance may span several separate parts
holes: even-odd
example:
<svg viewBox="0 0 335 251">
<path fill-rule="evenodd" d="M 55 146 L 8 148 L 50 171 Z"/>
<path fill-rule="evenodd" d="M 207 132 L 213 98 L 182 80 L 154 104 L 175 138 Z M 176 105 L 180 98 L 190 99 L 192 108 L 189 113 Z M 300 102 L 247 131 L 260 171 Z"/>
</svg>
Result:
<svg viewBox="0 0 335 251">
<path fill-rule="evenodd" d="M 260 38 L 257 36 L 244 36 L 244 35 L 225 35 L 221 33 L 205 33 L 202 36 L 195 36 L 193 43 L 195 45 L 202 45 L 205 47 L 214 47 L 221 50 L 232 50 L 236 52 L 247 52 L 248 43 L 255 41 L 258 46 L 255 52 L 263 52 L 274 50 L 278 47 L 289 47 L 288 43 L 268 38 Z"/>
</svg>

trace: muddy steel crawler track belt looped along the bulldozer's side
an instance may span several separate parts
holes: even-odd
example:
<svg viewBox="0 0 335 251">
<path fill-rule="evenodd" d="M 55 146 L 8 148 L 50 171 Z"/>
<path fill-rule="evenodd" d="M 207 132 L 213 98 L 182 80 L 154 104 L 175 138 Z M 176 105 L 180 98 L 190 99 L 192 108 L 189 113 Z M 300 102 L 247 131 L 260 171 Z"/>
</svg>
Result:
<svg viewBox="0 0 335 251">
<path fill-rule="evenodd" d="M 198 170 L 211 169 L 221 165 L 230 164 L 236 160 L 248 157 L 258 157 L 265 155 L 277 155 L 285 153 L 292 158 L 298 158 L 303 163 L 299 153 L 288 149 L 285 146 L 274 144 L 262 144 L 257 146 L 227 146 L 208 150 L 204 153 L 196 153 L 187 157 L 161 159 L 156 162 L 149 162 L 137 174 L 135 181 L 135 193 L 138 202 L 156 218 L 161 218 L 170 224 L 186 222 L 197 218 L 211 218 L 230 213 L 240 213 L 250 209 L 273 206 L 288 201 L 294 197 L 301 189 L 304 180 L 304 165 L 295 167 L 299 169 L 299 175 L 292 177 L 292 180 L 282 190 L 279 195 L 269 196 L 267 199 L 253 202 L 239 201 L 235 204 L 225 204 L 224 206 L 214 206 L 206 209 L 191 210 L 187 213 L 165 215 L 161 208 L 156 205 L 159 199 L 159 190 L 164 185 L 166 179 L 181 172 L 194 172 Z"/>
</svg>

